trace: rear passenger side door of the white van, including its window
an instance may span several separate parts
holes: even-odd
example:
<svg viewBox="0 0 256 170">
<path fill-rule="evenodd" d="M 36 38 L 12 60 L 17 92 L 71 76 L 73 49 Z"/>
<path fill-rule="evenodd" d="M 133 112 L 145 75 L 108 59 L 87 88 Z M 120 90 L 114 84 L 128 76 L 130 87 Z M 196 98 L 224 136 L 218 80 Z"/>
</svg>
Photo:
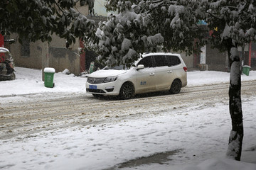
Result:
<svg viewBox="0 0 256 170">
<path fill-rule="evenodd" d="M 154 55 L 156 91 L 169 89 L 172 70 L 168 67 L 165 55 Z"/>
</svg>

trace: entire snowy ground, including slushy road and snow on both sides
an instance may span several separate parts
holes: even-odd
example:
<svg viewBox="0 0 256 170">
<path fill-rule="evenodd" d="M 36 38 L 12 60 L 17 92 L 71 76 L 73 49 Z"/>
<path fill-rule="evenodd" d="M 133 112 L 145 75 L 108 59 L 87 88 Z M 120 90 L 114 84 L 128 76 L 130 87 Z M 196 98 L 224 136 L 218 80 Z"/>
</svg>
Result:
<svg viewBox="0 0 256 170">
<path fill-rule="evenodd" d="M 181 94 L 128 101 L 78 93 L 85 78 L 56 74 L 57 86 L 46 89 L 30 74 L 9 86 L 36 84 L 31 91 L 12 86 L 18 92 L 1 95 L 0 169 L 256 169 L 256 72 L 242 75 L 239 163 L 224 159 L 231 128 L 227 73 L 188 73 L 190 84 Z"/>
</svg>

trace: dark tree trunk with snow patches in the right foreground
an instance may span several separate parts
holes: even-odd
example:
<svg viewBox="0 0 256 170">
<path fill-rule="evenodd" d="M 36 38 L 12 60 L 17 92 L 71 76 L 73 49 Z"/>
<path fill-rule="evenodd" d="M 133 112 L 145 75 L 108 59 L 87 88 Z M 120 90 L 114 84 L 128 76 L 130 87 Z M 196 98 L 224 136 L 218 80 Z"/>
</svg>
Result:
<svg viewBox="0 0 256 170">
<path fill-rule="evenodd" d="M 230 132 L 227 156 L 240 161 L 242 153 L 242 103 L 241 103 L 241 71 L 238 48 L 229 49 L 230 61 L 230 88 L 229 88 L 229 108 L 232 120 L 232 130 Z"/>
</svg>

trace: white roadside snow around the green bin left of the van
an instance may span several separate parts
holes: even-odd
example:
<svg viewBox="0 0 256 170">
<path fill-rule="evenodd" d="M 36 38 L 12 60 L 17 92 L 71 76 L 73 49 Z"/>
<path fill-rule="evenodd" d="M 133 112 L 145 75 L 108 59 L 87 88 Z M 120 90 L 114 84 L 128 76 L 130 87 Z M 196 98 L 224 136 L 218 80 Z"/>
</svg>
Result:
<svg viewBox="0 0 256 170">
<path fill-rule="evenodd" d="M 74 74 L 54 74 L 54 88 L 46 88 L 42 81 L 42 70 L 15 67 L 15 81 L 1 81 L 1 86 L 8 86 L 1 91 L 0 96 L 20 94 L 41 94 L 45 92 L 85 92 L 85 77 L 75 77 Z"/>
</svg>

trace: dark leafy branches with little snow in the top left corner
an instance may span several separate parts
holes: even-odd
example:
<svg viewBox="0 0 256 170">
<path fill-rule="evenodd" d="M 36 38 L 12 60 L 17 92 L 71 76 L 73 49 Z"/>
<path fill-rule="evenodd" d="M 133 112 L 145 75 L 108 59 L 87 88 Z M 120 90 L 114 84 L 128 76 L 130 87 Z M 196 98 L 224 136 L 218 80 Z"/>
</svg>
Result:
<svg viewBox="0 0 256 170">
<path fill-rule="evenodd" d="M 81 0 L 85 1 L 85 0 Z M 3 0 L 0 4 L 0 31 L 2 35 L 18 33 L 19 40 L 28 38 L 51 41 L 53 33 L 75 42 L 75 38 L 95 32 L 94 21 L 88 20 L 73 8 L 73 0 Z"/>
</svg>

